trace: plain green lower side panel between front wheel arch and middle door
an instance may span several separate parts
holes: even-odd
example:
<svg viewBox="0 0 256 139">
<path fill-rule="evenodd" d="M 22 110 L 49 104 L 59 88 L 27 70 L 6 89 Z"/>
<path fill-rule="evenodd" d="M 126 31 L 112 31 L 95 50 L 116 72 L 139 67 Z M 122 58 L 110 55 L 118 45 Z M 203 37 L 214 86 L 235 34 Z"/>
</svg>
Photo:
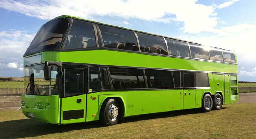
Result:
<svg viewBox="0 0 256 139">
<path fill-rule="evenodd" d="M 183 109 L 182 89 L 129 91 L 126 96 L 126 116 Z"/>
</svg>

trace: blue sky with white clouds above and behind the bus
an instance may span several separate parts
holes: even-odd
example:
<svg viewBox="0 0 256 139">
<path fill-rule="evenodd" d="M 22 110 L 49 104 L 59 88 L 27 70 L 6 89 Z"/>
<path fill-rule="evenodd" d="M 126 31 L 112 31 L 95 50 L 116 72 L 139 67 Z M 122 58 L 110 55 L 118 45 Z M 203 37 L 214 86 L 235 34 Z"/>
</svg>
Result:
<svg viewBox="0 0 256 139">
<path fill-rule="evenodd" d="M 73 15 L 237 53 L 239 81 L 256 81 L 256 0 L 0 0 L 0 77 L 22 77 L 39 28 Z"/>
</svg>

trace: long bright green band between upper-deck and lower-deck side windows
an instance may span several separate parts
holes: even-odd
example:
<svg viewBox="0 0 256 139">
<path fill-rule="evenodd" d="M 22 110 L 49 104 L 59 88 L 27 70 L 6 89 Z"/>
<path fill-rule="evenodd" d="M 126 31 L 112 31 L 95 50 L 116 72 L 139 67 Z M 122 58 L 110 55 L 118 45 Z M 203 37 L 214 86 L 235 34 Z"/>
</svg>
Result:
<svg viewBox="0 0 256 139">
<path fill-rule="evenodd" d="M 237 65 L 232 64 L 112 50 L 52 52 L 52 56 L 63 62 L 237 73 Z"/>
</svg>

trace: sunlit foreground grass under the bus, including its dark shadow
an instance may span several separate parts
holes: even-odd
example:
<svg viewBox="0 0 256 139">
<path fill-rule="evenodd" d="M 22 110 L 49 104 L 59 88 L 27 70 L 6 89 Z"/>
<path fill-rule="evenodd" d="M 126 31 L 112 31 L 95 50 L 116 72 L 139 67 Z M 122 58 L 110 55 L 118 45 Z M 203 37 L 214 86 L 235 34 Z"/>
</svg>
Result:
<svg viewBox="0 0 256 139">
<path fill-rule="evenodd" d="M 14 116 L 15 115 L 15 116 Z M 20 110 L 0 111 L 0 138 L 255 138 L 256 103 L 141 115 L 103 127 L 99 122 L 52 125 L 28 119 Z"/>
</svg>

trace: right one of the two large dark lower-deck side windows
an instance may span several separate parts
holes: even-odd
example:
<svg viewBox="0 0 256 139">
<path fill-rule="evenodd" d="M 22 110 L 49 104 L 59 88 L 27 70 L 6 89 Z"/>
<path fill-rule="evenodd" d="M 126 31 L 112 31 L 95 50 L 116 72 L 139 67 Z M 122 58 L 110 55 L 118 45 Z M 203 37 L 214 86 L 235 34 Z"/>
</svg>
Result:
<svg viewBox="0 0 256 139">
<path fill-rule="evenodd" d="M 171 71 L 145 69 L 148 88 L 173 88 Z"/>
</svg>

